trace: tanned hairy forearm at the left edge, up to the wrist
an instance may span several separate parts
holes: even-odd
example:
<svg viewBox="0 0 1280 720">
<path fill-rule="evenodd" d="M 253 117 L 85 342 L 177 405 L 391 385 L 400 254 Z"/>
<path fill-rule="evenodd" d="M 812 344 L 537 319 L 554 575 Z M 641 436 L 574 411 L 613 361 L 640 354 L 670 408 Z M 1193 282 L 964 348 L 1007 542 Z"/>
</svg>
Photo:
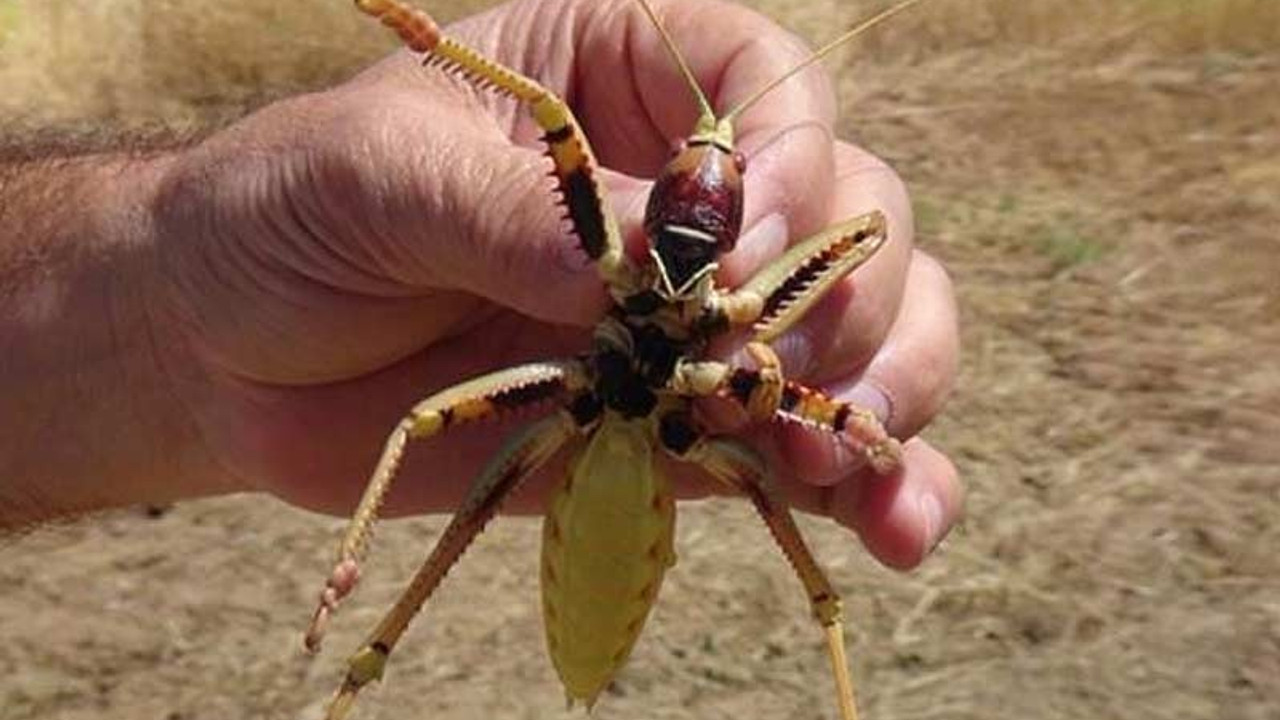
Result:
<svg viewBox="0 0 1280 720">
<path fill-rule="evenodd" d="M 152 322 L 164 160 L 0 160 L 0 529 L 215 492 Z"/>
</svg>

